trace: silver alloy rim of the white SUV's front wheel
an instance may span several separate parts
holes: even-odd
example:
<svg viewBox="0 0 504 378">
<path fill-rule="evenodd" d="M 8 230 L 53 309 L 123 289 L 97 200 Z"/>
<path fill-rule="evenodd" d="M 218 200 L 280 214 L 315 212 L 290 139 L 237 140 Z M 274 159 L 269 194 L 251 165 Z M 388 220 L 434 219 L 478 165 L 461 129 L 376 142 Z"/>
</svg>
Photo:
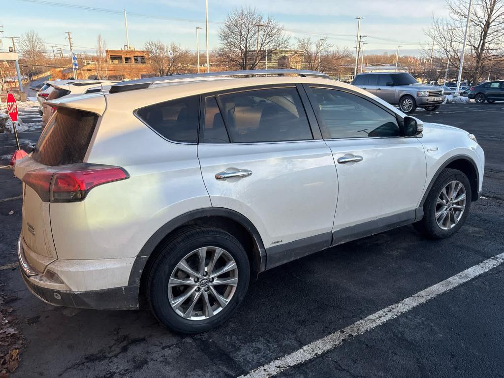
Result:
<svg viewBox="0 0 504 378">
<path fill-rule="evenodd" d="M 439 228 L 449 230 L 459 223 L 466 207 L 466 189 L 454 180 L 446 184 L 437 196 L 435 219 Z"/>
</svg>

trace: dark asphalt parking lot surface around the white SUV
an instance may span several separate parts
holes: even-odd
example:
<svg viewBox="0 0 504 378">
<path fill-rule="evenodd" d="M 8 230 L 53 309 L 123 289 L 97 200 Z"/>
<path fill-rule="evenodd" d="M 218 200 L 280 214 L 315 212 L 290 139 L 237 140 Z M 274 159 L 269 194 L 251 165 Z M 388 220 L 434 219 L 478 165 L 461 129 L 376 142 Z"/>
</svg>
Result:
<svg viewBox="0 0 504 378">
<path fill-rule="evenodd" d="M 504 376 L 504 264 L 324 348 L 332 342 L 326 336 L 504 253 L 504 103 L 413 115 L 467 130 L 485 150 L 483 198 L 460 232 L 432 241 L 405 226 L 272 269 L 251 284 L 229 323 L 195 336 L 171 333 L 146 309 L 80 310 L 36 299 L 9 265 L 17 261 L 22 201 L 12 198 L 21 184 L 0 169 L 0 296 L 24 338 L 12 376 L 233 377 L 258 367 L 279 377 Z M 12 135 L 0 134 L 0 156 L 13 145 Z M 271 368 L 310 343 L 324 353 Z"/>
</svg>

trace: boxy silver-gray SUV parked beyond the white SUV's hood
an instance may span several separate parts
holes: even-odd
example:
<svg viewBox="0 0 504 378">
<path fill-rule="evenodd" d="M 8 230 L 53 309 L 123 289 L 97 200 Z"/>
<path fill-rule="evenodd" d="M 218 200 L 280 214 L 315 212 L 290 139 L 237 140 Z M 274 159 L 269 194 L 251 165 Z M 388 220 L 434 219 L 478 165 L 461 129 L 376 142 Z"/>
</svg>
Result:
<svg viewBox="0 0 504 378">
<path fill-rule="evenodd" d="M 420 84 L 405 72 L 359 74 L 352 84 L 399 105 L 404 113 L 412 113 L 417 107 L 433 111 L 445 101 L 442 87 Z"/>
</svg>

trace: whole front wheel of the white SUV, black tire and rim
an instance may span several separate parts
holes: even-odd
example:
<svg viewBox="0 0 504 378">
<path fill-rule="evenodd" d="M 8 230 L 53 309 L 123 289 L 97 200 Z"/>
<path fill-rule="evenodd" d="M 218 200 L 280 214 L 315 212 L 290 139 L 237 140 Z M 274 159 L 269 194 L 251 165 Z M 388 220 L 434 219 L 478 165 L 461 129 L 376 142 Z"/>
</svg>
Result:
<svg viewBox="0 0 504 378">
<path fill-rule="evenodd" d="M 435 179 L 423 204 L 423 218 L 414 224 L 425 236 L 450 237 L 466 221 L 471 207 L 471 184 L 467 176 L 446 168 Z"/>
</svg>

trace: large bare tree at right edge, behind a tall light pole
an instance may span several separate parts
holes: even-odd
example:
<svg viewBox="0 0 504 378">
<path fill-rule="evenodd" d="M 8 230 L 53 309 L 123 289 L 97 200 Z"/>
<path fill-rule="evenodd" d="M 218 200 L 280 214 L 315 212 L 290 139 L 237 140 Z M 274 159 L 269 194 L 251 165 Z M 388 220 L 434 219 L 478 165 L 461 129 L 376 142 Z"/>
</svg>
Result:
<svg viewBox="0 0 504 378">
<path fill-rule="evenodd" d="M 438 59 L 451 58 L 454 68 L 460 64 L 468 3 L 447 0 L 449 18 L 435 18 L 426 35 L 435 37 Z M 429 50 L 430 51 L 430 50 Z M 501 60 L 504 51 L 504 0 L 473 0 L 466 41 L 464 71 L 477 84 L 483 73 Z"/>
</svg>

